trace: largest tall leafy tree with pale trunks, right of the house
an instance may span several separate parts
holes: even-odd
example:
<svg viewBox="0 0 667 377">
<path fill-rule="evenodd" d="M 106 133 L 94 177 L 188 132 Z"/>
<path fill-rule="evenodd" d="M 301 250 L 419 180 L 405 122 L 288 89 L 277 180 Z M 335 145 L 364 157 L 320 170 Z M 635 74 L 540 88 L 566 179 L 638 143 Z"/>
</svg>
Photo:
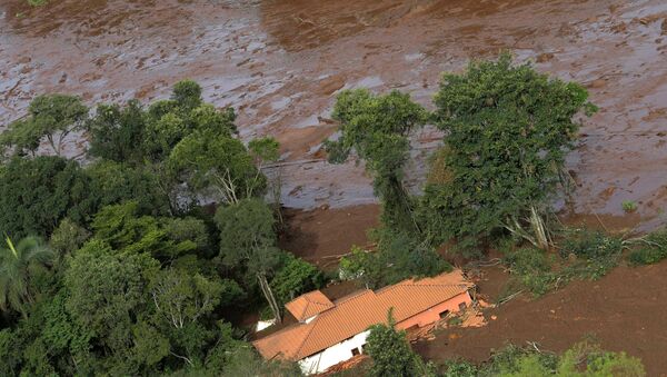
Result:
<svg viewBox="0 0 667 377">
<path fill-rule="evenodd" d="M 421 220 L 437 242 L 464 247 L 507 229 L 545 248 L 544 216 L 579 123 L 596 108 L 580 85 L 550 79 L 509 54 L 447 73 L 435 102 L 445 179 L 425 188 Z"/>
</svg>

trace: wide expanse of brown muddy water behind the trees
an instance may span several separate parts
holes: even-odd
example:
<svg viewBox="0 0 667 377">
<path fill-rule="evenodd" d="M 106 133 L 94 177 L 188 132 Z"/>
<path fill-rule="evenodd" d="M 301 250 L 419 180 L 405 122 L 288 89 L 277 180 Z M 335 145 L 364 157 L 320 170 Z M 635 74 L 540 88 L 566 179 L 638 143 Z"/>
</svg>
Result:
<svg viewBox="0 0 667 377">
<path fill-rule="evenodd" d="M 287 160 L 321 157 L 344 88 L 398 88 L 430 106 L 439 72 L 510 49 L 519 60 L 584 82 L 601 111 L 586 120 L 569 169 L 575 211 L 643 224 L 667 204 L 667 3 L 659 0 L 177 1 L 51 0 L 0 4 L 0 121 L 37 93 L 90 102 L 166 97 L 179 79 L 233 106 L 243 138 L 273 135 Z M 422 157 L 437 137 L 415 137 Z M 372 201 L 354 163 L 283 170 L 289 206 Z"/>
</svg>

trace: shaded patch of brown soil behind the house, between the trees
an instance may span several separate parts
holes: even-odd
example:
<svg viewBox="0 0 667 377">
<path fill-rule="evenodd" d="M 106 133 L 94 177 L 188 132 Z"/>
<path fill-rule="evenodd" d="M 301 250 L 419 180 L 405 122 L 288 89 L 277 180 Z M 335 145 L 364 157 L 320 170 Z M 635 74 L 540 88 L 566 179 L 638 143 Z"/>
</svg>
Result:
<svg viewBox="0 0 667 377">
<path fill-rule="evenodd" d="M 338 256 L 349 252 L 354 245 L 369 242 L 367 230 L 378 226 L 379 212 L 377 205 L 309 211 L 288 208 L 287 229 L 279 244 L 282 249 L 331 270 L 338 265 Z"/>
</svg>

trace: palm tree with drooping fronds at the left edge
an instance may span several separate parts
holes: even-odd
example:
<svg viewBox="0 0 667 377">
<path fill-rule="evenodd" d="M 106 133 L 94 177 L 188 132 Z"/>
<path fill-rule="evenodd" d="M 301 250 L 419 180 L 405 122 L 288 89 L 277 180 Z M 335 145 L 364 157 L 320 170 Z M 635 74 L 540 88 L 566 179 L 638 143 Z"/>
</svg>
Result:
<svg viewBox="0 0 667 377">
<path fill-rule="evenodd" d="M 14 309 L 28 317 L 28 305 L 34 298 L 30 292 L 31 271 L 44 266 L 53 252 L 37 237 L 26 237 L 17 244 L 9 237 L 7 248 L 0 248 L 0 310 Z"/>
</svg>

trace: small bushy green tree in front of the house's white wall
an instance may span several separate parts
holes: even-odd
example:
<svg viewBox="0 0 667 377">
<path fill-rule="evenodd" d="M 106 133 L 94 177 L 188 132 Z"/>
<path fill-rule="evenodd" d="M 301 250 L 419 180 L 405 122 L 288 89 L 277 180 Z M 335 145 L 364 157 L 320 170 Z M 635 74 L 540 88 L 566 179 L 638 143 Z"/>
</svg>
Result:
<svg viewBox="0 0 667 377">
<path fill-rule="evenodd" d="M 387 325 L 374 325 L 366 338 L 365 353 L 372 359 L 370 376 L 428 375 L 421 358 L 412 351 L 405 330 L 395 328 L 392 309 L 387 315 Z"/>
</svg>

